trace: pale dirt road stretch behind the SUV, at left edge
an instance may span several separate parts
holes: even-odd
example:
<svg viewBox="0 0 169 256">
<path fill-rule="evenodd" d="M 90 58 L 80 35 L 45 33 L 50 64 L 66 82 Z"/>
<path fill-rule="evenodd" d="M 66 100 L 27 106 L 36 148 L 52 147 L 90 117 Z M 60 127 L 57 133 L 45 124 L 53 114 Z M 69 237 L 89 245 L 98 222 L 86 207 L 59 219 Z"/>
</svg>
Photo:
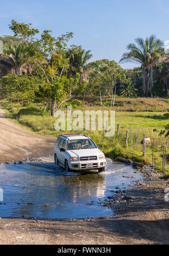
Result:
<svg viewBox="0 0 169 256">
<path fill-rule="evenodd" d="M 54 143 L 55 138 L 34 135 L 16 126 L 0 109 L 0 163 L 52 154 Z"/>
</svg>

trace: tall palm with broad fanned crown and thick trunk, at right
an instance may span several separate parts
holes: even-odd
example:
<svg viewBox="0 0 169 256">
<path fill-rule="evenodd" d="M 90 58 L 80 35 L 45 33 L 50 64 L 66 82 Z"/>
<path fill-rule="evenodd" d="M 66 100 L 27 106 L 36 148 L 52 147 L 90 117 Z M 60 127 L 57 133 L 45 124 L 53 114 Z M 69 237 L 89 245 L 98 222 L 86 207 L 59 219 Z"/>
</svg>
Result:
<svg viewBox="0 0 169 256">
<path fill-rule="evenodd" d="M 143 70 L 143 91 L 146 97 L 152 95 L 153 88 L 153 66 L 162 61 L 164 54 L 163 42 L 154 35 L 149 38 L 135 39 L 136 44 L 129 44 L 120 62 L 137 62 Z"/>
</svg>

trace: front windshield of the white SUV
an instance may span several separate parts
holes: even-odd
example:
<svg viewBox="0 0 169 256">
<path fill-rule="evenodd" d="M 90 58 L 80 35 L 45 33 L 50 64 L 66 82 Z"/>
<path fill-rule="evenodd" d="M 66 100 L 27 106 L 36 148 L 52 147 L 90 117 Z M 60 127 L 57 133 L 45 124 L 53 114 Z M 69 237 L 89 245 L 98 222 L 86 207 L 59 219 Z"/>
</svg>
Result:
<svg viewBox="0 0 169 256">
<path fill-rule="evenodd" d="M 91 139 L 68 140 L 67 150 L 85 150 L 86 148 L 97 148 Z"/>
</svg>

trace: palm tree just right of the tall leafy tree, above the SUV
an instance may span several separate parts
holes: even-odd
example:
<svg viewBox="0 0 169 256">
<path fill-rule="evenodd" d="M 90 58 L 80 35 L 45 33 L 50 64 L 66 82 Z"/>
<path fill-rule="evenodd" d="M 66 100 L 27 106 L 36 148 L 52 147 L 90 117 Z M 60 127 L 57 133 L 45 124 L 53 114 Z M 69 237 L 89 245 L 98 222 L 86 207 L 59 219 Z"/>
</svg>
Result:
<svg viewBox="0 0 169 256">
<path fill-rule="evenodd" d="M 71 75 L 75 75 L 75 73 L 78 72 L 81 75 L 80 83 L 83 82 L 83 80 L 87 80 L 86 65 L 91 58 L 91 51 L 85 51 L 81 48 L 70 58 L 70 73 L 72 73 Z"/>
</svg>

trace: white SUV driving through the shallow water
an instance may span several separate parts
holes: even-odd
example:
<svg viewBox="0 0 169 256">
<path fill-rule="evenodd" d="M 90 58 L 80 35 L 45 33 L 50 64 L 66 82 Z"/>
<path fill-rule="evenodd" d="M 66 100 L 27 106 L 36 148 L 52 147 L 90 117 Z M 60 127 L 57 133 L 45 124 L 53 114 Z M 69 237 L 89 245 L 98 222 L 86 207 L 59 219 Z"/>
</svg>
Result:
<svg viewBox="0 0 169 256">
<path fill-rule="evenodd" d="M 106 159 L 90 137 L 83 134 L 64 134 L 59 135 L 55 143 L 55 164 L 60 164 L 66 172 L 88 169 L 104 172 Z"/>
</svg>

